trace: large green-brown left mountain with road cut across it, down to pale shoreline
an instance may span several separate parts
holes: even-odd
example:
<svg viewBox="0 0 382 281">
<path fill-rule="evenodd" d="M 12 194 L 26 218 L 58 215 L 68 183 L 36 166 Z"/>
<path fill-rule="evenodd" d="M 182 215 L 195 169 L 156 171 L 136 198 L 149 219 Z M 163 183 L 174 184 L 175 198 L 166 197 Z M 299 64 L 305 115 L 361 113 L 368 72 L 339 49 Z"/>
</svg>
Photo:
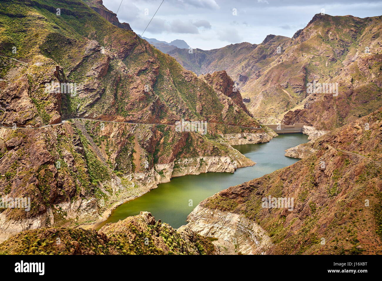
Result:
<svg viewBox="0 0 382 281">
<path fill-rule="evenodd" d="M 231 145 L 276 135 L 225 72 L 198 78 L 83 1 L 2 1 L 0 22 L 0 197 L 31 202 L 0 208 L 0 240 L 102 220 L 173 176 L 254 165 Z"/>
</svg>

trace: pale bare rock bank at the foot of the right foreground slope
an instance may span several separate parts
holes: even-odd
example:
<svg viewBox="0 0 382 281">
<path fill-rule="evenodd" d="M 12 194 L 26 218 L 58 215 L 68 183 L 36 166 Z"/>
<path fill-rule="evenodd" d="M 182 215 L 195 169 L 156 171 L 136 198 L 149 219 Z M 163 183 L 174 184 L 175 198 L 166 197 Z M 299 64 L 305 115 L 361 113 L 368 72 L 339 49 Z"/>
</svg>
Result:
<svg viewBox="0 0 382 281">
<path fill-rule="evenodd" d="M 272 240 L 256 222 L 239 214 L 212 210 L 198 205 L 187 217 L 187 227 L 208 237 L 219 237 L 215 241 L 221 247 L 235 249 L 235 253 L 246 255 L 263 254 L 272 246 Z M 228 245 L 228 246 L 227 246 Z"/>
</svg>

